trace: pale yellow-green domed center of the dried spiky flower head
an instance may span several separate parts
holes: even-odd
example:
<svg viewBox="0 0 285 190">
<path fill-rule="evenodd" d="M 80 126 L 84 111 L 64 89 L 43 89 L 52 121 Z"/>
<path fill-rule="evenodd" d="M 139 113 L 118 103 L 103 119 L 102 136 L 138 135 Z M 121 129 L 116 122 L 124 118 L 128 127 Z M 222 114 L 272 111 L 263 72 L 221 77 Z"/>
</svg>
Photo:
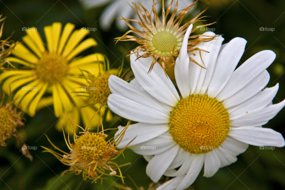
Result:
<svg viewBox="0 0 285 190">
<path fill-rule="evenodd" d="M 160 52 L 172 52 L 177 44 L 177 39 L 170 32 L 160 31 L 153 36 L 152 44 Z"/>
</svg>

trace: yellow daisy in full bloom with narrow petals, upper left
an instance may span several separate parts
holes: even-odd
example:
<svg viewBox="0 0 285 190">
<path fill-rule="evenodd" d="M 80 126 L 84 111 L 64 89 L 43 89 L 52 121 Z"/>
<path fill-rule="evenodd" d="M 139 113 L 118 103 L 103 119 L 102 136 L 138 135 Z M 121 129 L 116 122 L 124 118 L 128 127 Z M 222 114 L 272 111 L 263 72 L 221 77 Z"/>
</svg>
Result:
<svg viewBox="0 0 285 190">
<path fill-rule="evenodd" d="M 92 38 L 81 42 L 89 31 L 73 31 L 74 28 L 75 25 L 71 23 L 67 23 L 63 30 L 61 23 L 45 26 L 47 46 L 43 43 L 37 28 L 29 28 L 26 31 L 27 35 L 23 37 L 29 49 L 23 44 L 18 44 L 12 51 L 15 57 L 6 58 L 22 67 L 15 70 L 7 68 L 0 75 L 0 82 L 6 79 L 2 88 L 7 94 L 19 89 L 13 100 L 17 105 L 21 103 L 22 110 L 30 116 L 34 116 L 36 110 L 50 103 L 53 103 L 54 112 L 58 117 L 65 111 L 71 112 L 74 107 L 83 104 L 80 97 L 72 94 L 75 88 L 85 85 L 85 81 L 77 75 L 81 74 L 80 69 L 92 72 L 103 56 L 91 54 L 75 58 L 97 43 Z M 78 111 L 76 114 L 78 115 Z"/>
</svg>

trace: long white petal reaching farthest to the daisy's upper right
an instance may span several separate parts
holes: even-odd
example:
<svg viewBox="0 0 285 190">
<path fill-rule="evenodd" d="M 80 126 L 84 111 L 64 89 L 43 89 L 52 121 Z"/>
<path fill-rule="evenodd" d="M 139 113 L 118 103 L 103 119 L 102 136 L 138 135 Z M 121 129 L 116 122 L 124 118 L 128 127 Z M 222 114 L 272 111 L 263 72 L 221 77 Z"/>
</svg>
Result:
<svg viewBox="0 0 285 190">
<path fill-rule="evenodd" d="M 227 85 L 216 96 L 216 99 L 223 101 L 234 95 L 270 66 L 275 58 L 276 54 L 273 51 L 264 50 L 246 60 L 235 70 Z"/>
</svg>

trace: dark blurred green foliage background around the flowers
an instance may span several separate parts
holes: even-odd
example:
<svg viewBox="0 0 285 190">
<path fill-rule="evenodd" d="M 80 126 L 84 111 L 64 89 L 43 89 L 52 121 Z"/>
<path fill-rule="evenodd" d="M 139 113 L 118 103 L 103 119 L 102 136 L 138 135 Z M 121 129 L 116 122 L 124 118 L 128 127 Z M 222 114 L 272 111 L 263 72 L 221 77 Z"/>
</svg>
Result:
<svg viewBox="0 0 285 190">
<path fill-rule="evenodd" d="M 143 1 L 143 0 L 142 0 Z M 271 79 L 268 87 L 280 83 L 279 91 L 273 103 L 278 103 L 284 99 L 285 94 L 285 1 L 284 0 L 233 0 L 229 3 L 215 4 L 217 1 L 201 1 L 197 8 L 204 10 L 209 7 L 204 15 L 209 15 L 208 23 L 217 22 L 209 28 L 215 28 L 215 33 L 224 34 L 224 43 L 229 42 L 234 37 L 245 38 L 248 43 L 246 51 L 240 60 L 243 63 L 255 53 L 261 50 L 273 50 L 277 57 L 268 68 Z M 12 36 L 12 40 L 21 41 L 25 35 L 23 27 L 35 26 L 41 36 L 44 36 L 43 27 L 53 22 L 67 22 L 81 27 L 97 28 L 88 37 L 94 38 L 98 46 L 90 48 L 84 52 L 85 55 L 100 52 L 107 55 L 111 68 L 118 68 L 121 65 L 122 57 L 137 46 L 134 42 L 120 42 L 115 46 L 113 39 L 124 33 L 112 25 L 110 31 L 102 31 L 99 28 L 98 19 L 103 8 L 83 10 L 80 3 L 74 0 L 1 0 L 0 13 L 6 17 L 3 39 Z M 188 19 L 191 19 L 189 15 Z M 187 20 L 185 20 L 187 21 Z M 271 31 L 260 31 L 260 27 L 274 28 Z M 197 31 L 203 33 L 203 31 Z M 45 39 L 43 39 L 45 41 Z M 124 61 L 125 68 L 130 66 L 129 58 Z M 240 65 L 240 64 L 239 64 Z M 75 174 L 64 174 L 68 169 L 61 164 L 52 154 L 42 153 L 40 146 L 50 147 L 45 138 L 47 134 L 50 140 L 58 148 L 68 151 L 64 142 L 63 134 L 55 129 L 58 118 L 53 114 L 53 107 L 46 107 L 38 111 L 34 118 L 25 115 L 26 126 L 19 130 L 23 140 L 29 146 L 37 146 L 37 150 L 31 150 L 34 157 L 33 162 L 25 158 L 15 144 L 15 139 L 7 140 L 7 147 L 0 147 L 0 189 L 12 190 L 44 190 L 44 189 L 76 189 L 82 176 Z M 264 127 L 270 127 L 278 132 L 284 132 L 283 117 L 285 109 L 281 110 L 277 116 L 269 121 Z M 116 128 L 118 125 L 126 125 L 127 120 L 121 117 L 114 117 L 112 122 L 105 123 L 106 128 Z M 116 130 L 110 130 L 108 134 L 113 136 Z M 132 176 L 138 186 L 145 189 L 151 183 L 150 178 L 145 174 L 147 162 L 142 156 L 135 154 L 131 150 L 126 150 L 124 156 L 117 160 L 118 164 L 132 162 L 132 165 L 122 167 L 124 176 Z M 221 168 L 213 177 L 202 177 L 200 173 L 194 182 L 197 190 L 211 189 L 285 189 L 285 148 L 275 148 L 272 150 L 260 150 L 259 147 L 249 146 L 247 151 L 238 156 L 238 161 L 227 167 Z M 203 170 L 203 169 L 202 169 Z M 118 183 L 119 178 L 110 177 Z M 125 183 L 132 189 L 136 189 L 129 178 L 125 178 Z M 107 190 L 116 189 L 110 180 L 104 180 L 91 184 L 87 189 Z"/>
</svg>

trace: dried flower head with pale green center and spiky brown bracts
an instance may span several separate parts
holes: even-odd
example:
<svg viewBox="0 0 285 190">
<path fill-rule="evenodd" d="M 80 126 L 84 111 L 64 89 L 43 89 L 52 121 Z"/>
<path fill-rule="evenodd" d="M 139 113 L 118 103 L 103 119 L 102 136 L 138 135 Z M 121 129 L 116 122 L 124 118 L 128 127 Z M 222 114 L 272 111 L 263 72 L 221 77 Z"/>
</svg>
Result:
<svg viewBox="0 0 285 190">
<path fill-rule="evenodd" d="M 153 0 L 152 12 L 154 14 L 155 23 L 153 23 L 151 14 L 149 14 L 147 9 L 145 9 L 140 4 L 140 6 L 144 10 L 143 11 L 136 4 L 133 3 L 135 8 L 133 7 L 132 8 L 136 12 L 140 20 L 126 19 L 123 17 L 122 19 L 126 21 L 127 25 L 130 27 L 131 30 L 127 31 L 123 36 L 115 38 L 116 43 L 118 41 L 136 41 L 137 43 L 142 44 L 131 51 L 133 51 L 133 53 L 138 53 L 141 51 L 145 52 L 143 55 L 138 56 L 138 58 L 141 58 L 141 57 L 146 58 L 146 57 L 153 56 L 153 61 L 152 61 L 149 71 L 151 71 L 151 69 L 153 68 L 153 65 L 156 63 L 158 59 L 161 60 L 164 72 L 165 72 L 165 66 L 167 62 L 170 63 L 168 66 L 173 65 L 175 63 L 174 57 L 177 57 L 179 55 L 183 37 L 185 35 L 187 28 L 191 24 L 194 24 L 196 22 L 205 21 L 205 20 L 201 20 L 203 17 L 198 18 L 203 12 L 205 12 L 204 10 L 199 15 L 197 15 L 195 18 L 193 18 L 186 24 L 179 27 L 186 13 L 189 12 L 189 10 L 196 3 L 191 4 L 185 9 L 177 11 L 178 9 L 178 1 L 177 1 L 175 9 L 172 12 L 172 15 L 170 16 L 169 20 L 166 22 L 167 16 L 169 15 L 170 10 L 171 10 L 172 1 L 169 4 L 165 12 L 164 1 L 162 0 L 162 21 L 160 21 L 159 16 L 157 15 L 157 12 L 156 12 L 155 2 Z M 140 14 L 143 15 L 143 18 L 140 16 Z M 143 28 L 143 31 L 137 30 L 136 28 L 132 27 L 127 22 L 127 20 L 137 22 Z M 196 26 L 195 28 L 192 29 L 191 33 L 197 30 L 198 28 L 208 26 L 211 24 Z M 131 32 L 137 34 L 142 39 L 139 39 L 136 36 L 128 35 Z M 188 52 L 189 53 L 194 55 L 194 53 L 192 53 L 194 50 L 199 50 L 200 52 L 203 51 L 197 47 L 194 48 L 194 46 L 196 46 L 197 44 L 201 42 L 210 41 L 215 38 L 215 36 L 212 36 L 212 38 L 198 38 L 200 36 L 204 36 L 204 35 L 194 35 L 194 36 L 189 37 L 193 39 L 193 40 L 188 41 Z M 189 59 L 190 61 L 198 64 L 194 59 L 190 57 Z"/>
</svg>

